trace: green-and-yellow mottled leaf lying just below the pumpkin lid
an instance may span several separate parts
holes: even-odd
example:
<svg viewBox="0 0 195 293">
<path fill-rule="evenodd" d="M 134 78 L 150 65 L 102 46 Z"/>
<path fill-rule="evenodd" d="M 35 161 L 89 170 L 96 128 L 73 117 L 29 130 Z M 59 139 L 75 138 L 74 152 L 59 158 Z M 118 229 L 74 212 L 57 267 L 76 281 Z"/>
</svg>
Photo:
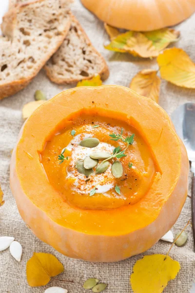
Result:
<svg viewBox="0 0 195 293">
<path fill-rule="evenodd" d="M 179 32 L 169 28 L 163 28 L 151 32 L 128 31 L 120 34 L 116 28 L 105 26 L 111 38 L 106 49 L 121 53 L 130 53 L 142 58 L 157 57 L 159 52 L 167 47 L 170 42 L 176 42 Z"/>
</svg>

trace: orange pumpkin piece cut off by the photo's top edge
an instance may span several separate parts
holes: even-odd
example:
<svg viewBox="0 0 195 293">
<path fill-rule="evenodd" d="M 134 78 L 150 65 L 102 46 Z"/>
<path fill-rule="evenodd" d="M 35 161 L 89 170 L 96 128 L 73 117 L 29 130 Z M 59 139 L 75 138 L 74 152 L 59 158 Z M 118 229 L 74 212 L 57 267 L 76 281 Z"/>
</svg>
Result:
<svg viewBox="0 0 195 293">
<path fill-rule="evenodd" d="M 184 21 L 194 0 L 81 0 L 101 21 L 133 31 L 152 31 Z"/>
</svg>

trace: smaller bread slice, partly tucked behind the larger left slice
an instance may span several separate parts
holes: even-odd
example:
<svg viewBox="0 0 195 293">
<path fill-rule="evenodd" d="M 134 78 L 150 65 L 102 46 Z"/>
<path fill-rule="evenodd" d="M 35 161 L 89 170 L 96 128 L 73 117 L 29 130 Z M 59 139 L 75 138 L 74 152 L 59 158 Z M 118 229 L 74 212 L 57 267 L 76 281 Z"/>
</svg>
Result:
<svg viewBox="0 0 195 293">
<path fill-rule="evenodd" d="M 102 80 L 109 76 L 105 60 L 72 14 L 71 26 L 64 42 L 44 69 L 49 79 L 57 84 L 77 83 L 96 74 L 99 74 Z"/>
</svg>

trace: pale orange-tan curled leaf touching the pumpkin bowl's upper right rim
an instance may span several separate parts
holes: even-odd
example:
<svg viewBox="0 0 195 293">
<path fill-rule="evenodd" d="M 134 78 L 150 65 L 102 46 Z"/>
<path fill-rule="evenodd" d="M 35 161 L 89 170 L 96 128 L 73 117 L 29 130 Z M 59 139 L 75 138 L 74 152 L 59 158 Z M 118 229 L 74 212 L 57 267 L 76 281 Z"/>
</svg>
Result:
<svg viewBox="0 0 195 293">
<path fill-rule="evenodd" d="M 137 92 L 137 94 L 150 98 L 157 103 L 160 91 L 160 79 L 156 74 L 157 71 L 153 69 L 139 71 L 132 79 L 129 87 Z"/>
</svg>

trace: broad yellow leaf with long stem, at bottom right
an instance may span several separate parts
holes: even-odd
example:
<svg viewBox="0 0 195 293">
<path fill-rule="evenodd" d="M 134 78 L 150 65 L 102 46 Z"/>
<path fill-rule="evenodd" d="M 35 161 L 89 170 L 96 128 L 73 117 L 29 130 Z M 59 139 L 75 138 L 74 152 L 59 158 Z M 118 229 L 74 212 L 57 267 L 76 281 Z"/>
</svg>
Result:
<svg viewBox="0 0 195 293">
<path fill-rule="evenodd" d="M 133 292 L 161 293 L 168 282 L 176 278 L 179 270 L 179 262 L 169 255 L 146 255 L 134 265 L 130 278 Z"/>
</svg>

